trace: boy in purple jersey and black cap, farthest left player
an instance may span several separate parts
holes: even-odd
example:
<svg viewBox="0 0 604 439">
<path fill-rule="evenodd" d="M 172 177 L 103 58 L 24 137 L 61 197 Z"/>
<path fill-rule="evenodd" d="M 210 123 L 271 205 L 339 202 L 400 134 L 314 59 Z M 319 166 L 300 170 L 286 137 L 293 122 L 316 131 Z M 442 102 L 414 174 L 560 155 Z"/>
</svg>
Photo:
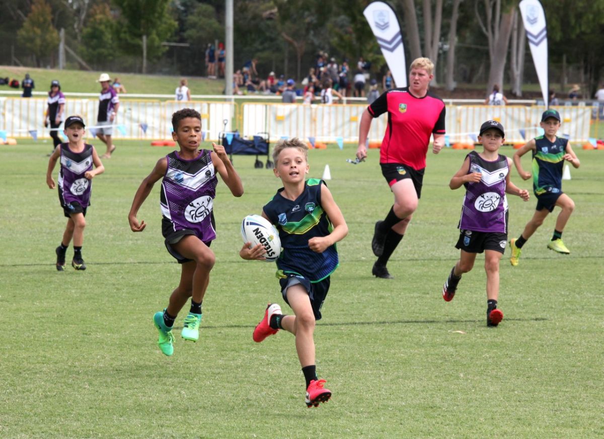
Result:
<svg viewBox="0 0 604 439">
<path fill-rule="evenodd" d="M 51 174 L 60 158 L 59 201 L 64 215 L 68 218 L 61 245 L 55 250 L 58 271 L 63 271 L 65 267 L 65 252 L 72 238 L 74 240 L 74 257 L 71 265 L 76 270 L 86 270 L 86 264 L 82 259 L 82 244 L 84 227 L 86 227 L 84 217 L 86 209 L 90 205 L 92 191 L 91 180 L 105 170 L 101 159 L 98 158 L 97 150 L 84 142 L 85 127 L 80 116 L 69 116 L 65 120 L 65 130 L 63 130 L 69 142 L 57 146 L 48 160 L 46 183 L 49 188 L 54 189 L 55 184 Z M 94 165 L 94 169 L 92 165 Z"/>
</svg>

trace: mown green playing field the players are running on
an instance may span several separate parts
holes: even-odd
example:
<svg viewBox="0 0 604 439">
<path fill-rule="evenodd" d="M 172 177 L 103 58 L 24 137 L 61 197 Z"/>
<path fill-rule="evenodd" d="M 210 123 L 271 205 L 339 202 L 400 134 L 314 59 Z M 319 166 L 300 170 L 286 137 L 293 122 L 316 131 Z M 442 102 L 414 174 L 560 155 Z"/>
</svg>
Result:
<svg viewBox="0 0 604 439">
<path fill-rule="evenodd" d="M 289 312 L 274 265 L 238 255 L 240 220 L 260 212 L 277 178 L 254 169 L 254 157 L 234 157 L 246 192 L 234 198 L 219 184 L 217 263 L 200 341 L 181 339 L 181 313 L 175 355 L 167 358 L 155 344 L 152 315 L 166 305 L 179 266 L 161 237 L 159 184 L 140 211 L 149 223 L 143 233 L 130 232 L 127 213 L 141 180 L 171 148 L 117 146 L 94 179 L 88 270 L 63 273 L 54 268 L 54 248 L 65 218 L 45 185 L 51 144 L 0 146 L 0 437 L 604 436 L 602 152 L 578 151 L 582 166 L 564 182 L 577 206 L 564 232 L 571 254 L 546 248 L 554 218 L 527 242 L 518 267 L 506 251 L 505 318 L 491 329 L 482 256 L 455 300 L 441 295 L 458 257 L 463 198 L 448 182 L 464 151 L 429 153 L 419 210 L 388 265 L 394 280 L 371 277 L 373 224 L 392 201 L 376 151 L 356 166 L 345 162 L 352 145 L 310 151 L 311 177 L 330 166 L 328 184 L 350 233 L 339 244 L 341 267 L 315 332 L 317 370 L 333 397 L 307 409 L 294 337 L 251 338 L 267 302 Z M 512 181 L 530 188 L 516 172 Z M 518 236 L 535 200 L 509 202 L 510 236 Z"/>
</svg>

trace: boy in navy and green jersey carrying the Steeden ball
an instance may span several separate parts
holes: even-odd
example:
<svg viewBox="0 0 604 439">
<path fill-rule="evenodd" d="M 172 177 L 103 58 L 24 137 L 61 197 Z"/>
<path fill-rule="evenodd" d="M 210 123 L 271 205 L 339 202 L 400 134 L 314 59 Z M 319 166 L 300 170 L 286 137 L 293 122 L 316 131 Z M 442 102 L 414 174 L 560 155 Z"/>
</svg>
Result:
<svg viewBox="0 0 604 439">
<path fill-rule="evenodd" d="M 318 406 L 331 397 L 318 379 L 315 367 L 315 321 L 329 291 L 330 275 L 338 268 L 335 244 L 348 233 L 348 226 L 323 180 L 309 179 L 308 147 L 299 139 L 284 140 L 273 150 L 275 175 L 283 188 L 263 207 L 262 216 L 279 230 L 283 250 L 277 259 L 277 277 L 283 300 L 294 315 L 283 315 L 277 303 L 269 303 L 264 318 L 254 329 L 257 343 L 284 329 L 295 335 L 298 359 L 306 379 L 305 402 Z M 262 260 L 262 244 L 246 242 L 239 255 Z"/>
</svg>

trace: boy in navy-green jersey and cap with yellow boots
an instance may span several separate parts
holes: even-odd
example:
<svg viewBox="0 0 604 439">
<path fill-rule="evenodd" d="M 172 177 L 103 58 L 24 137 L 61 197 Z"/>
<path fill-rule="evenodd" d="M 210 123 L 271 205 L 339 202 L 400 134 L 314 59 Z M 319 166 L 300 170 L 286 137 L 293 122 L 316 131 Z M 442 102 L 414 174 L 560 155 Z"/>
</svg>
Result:
<svg viewBox="0 0 604 439">
<path fill-rule="evenodd" d="M 543 136 L 535 137 L 528 141 L 514 154 L 513 160 L 518 169 L 518 174 L 528 180 L 531 177 L 530 172 L 524 171 L 520 163 L 520 157 L 532 151 L 533 153 L 533 191 L 537 197 L 537 207 L 535 214 L 524 227 L 522 235 L 518 239 L 510 241 L 512 257 L 510 263 L 518 265 L 518 259 L 521 254 L 521 248 L 533 233 L 543 224 L 545 217 L 554 210 L 554 206 L 561 207 L 562 211 L 558 214 L 556 220 L 556 229 L 547 248 L 557 251 L 557 253 L 569 254 L 570 251 L 562 242 L 562 232 L 574 210 L 574 202 L 571 198 L 562 192 L 562 168 L 564 160 L 567 160 L 575 168 L 581 164 L 576 154 L 571 148 L 568 139 L 556 136 L 560 129 L 560 114 L 556 110 L 547 110 L 541 116 L 541 128 L 544 130 Z"/>
</svg>

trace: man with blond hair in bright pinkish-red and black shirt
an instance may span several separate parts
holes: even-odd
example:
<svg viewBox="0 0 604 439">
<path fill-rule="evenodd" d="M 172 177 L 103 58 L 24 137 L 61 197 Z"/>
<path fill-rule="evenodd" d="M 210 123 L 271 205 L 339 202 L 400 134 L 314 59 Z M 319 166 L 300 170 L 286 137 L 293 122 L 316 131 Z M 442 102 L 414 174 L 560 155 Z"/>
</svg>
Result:
<svg viewBox="0 0 604 439">
<path fill-rule="evenodd" d="M 388 113 L 388 127 L 380 148 L 380 166 L 394 194 L 394 204 L 385 220 L 375 225 L 371 250 L 377 256 L 372 273 L 391 279 L 386 264 L 403 238 L 422 194 L 423 173 L 430 136 L 432 152 L 438 154 L 445 143 L 445 103 L 428 92 L 434 75 L 428 58 L 411 63 L 409 86 L 388 90 L 377 98 L 361 117 L 356 157 L 367 157 L 367 134 L 371 119 Z"/>
</svg>

